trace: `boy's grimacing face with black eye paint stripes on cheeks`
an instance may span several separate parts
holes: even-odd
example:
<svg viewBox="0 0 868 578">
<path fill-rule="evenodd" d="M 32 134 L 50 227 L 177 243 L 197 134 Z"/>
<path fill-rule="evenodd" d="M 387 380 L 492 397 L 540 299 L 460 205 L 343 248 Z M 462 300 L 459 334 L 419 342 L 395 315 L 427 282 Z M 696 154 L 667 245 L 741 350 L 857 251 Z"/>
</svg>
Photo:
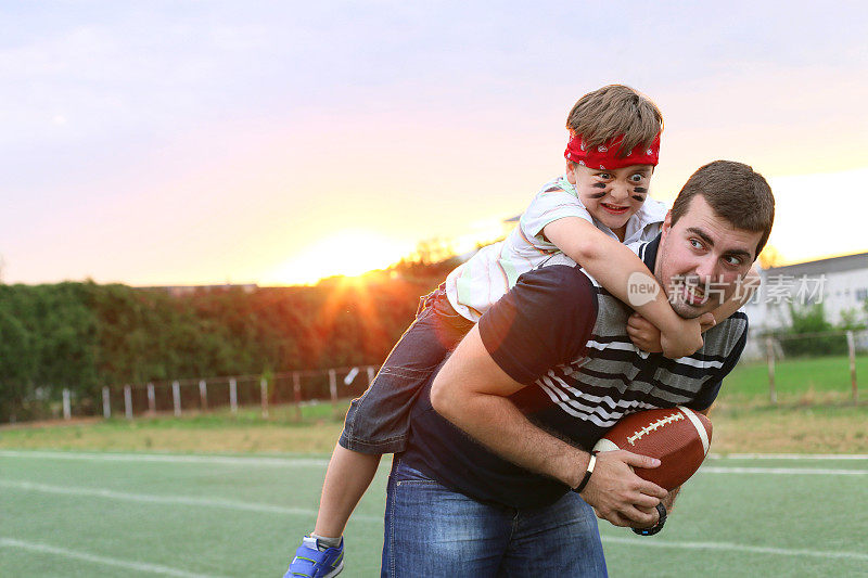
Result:
<svg viewBox="0 0 868 578">
<path fill-rule="evenodd" d="M 613 170 L 595 170 L 578 165 L 572 171 L 567 170 L 567 179 L 576 185 L 578 198 L 588 213 L 623 237 L 627 221 L 648 196 L 653 172 L 651 165 L 631 165 Z"/>
</svg>

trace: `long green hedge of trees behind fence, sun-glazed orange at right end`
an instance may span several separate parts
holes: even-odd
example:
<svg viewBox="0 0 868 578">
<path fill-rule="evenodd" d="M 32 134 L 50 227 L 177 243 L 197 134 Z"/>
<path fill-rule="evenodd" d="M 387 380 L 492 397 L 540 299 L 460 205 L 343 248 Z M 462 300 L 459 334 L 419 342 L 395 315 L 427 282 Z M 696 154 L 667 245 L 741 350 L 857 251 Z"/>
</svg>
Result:
<svg viewBox="0 0 868 578">
<path fill-rule="evenodd" d="M 63 388 L 98 399 L 105 385 L 379 364 L 452 265 L 186 295 L 0 285 L 0 421 L 39 416 Z"/>
</svg>

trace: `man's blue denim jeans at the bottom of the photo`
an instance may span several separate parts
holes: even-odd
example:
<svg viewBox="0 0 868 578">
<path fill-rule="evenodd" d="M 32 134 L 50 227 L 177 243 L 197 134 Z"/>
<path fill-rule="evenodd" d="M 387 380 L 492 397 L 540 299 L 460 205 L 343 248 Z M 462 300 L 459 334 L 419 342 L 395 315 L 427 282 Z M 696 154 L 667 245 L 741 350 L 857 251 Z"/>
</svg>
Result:
<svg viewBox="0 0 868 578">
<path fill-rule="evenodd" d="M 395 460 L 381 577 L 607 576 L 593 510 L 575 492 L 516 510 L 477 502 Z"/>
</svg>

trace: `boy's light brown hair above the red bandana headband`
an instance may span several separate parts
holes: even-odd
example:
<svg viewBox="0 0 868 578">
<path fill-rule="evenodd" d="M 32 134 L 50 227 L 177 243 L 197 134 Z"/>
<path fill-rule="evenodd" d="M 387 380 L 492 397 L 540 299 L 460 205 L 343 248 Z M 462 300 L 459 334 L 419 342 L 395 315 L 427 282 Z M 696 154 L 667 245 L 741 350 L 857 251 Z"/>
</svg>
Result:
<svg viewBox="0 0 868 578">
<path fill-rule="evenodd" d="M 624 85 L 609 85 L 578 99 L 566 117 L 566 128 L 570 134 L 582 134 L 591 147 L 624 134 L 618 149 L 623 158 L 637 144 L 651 145 L 663 130 L 663 115 L 644 94 Z"/>
</svg>

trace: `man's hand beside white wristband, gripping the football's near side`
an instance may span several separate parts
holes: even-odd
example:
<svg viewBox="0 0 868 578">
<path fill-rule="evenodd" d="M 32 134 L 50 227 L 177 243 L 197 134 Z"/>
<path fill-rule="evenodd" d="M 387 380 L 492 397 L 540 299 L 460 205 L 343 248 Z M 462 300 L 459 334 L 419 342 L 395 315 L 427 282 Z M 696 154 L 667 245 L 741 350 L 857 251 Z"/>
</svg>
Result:
<svg viewBox="0 0 868 578">
<path fill-rule="evenodd" d="M 593 506 L 597 517 L 615 526 L 652 526 L 655 506 L 668 493 L 656 484 L 644 480 L 633 467 L 656 467 L 660 460 L 625 450 L 597 454 L 597 465 L 582 498 Z M 650 513 L 650 510 L 654 510 Z"/>
</svg>

